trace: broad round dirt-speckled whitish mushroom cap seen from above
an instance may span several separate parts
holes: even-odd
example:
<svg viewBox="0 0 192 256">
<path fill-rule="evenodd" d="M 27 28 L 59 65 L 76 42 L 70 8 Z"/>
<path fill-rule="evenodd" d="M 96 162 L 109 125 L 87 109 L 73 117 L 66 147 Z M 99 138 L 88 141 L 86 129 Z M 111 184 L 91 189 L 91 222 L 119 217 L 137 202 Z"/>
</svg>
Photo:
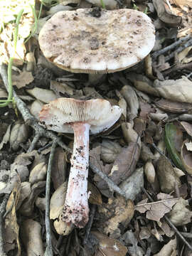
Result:
<svg viewBox="0 0 192 256">
<path fill-rule="evenodd" d="M 74 73 L 112 73 L 135 65 L 154 46 L 154 26 L 141 11 L 60 11 L 39 34 L 43 54 Z"/>
</svg>

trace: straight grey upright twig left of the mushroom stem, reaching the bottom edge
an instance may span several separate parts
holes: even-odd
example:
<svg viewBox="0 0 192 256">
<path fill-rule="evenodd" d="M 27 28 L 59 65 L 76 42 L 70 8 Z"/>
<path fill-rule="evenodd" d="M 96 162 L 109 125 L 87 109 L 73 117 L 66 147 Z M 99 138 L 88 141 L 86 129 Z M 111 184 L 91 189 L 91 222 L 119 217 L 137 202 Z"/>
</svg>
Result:
<svg viewBox="0 0 192 256">
<path fill-rule="evenodd" d="M 50 174 L 51 169 L 53 165 L 53 156 L 55 153 L 55 147 L 56 142 L 53 142 L 51 150 L 50 150 L 50 156 L 48 159 L 48 171 L 47 171 L 47 179 L 46 179 L 46 252 L 45 256 L 53 256 L 53 247 L 52 247 L 52 241 L 51 241 L 51 230 L 50 230 L 50 218 L 49 218 L 49 212 L 50 212 Z"/>
</svg>

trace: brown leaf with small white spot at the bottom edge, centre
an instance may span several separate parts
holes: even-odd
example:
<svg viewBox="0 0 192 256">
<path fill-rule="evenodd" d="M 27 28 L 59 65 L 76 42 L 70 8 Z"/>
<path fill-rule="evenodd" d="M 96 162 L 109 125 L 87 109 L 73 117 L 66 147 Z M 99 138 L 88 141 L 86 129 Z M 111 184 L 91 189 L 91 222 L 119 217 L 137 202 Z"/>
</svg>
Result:
<svg viewBox="0 0 192 256">
<path fill-rule="evenodd" d="M 125 256 L 127 253 L 127 247 L 122 245 L 118 240 L 108 238 L 107 235 L 103 235 L 98 231 L 92 231 L 91 235 L 94 235 L 98 240 L 98 247 L 95 256 Z"/>
</svg>

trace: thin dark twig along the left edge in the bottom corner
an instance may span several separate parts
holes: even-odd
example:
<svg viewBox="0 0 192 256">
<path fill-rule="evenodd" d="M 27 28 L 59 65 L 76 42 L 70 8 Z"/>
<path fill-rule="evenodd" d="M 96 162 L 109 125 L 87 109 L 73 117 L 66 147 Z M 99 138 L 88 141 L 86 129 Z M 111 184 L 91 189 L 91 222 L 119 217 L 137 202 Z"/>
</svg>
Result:
<svg viewBox="0 0 192 256">
<path fill-rule="evenodd" d="M 0 206 L 0 255 L 6 256 L 6 253 L 4 252 L 4 213 L 6 211 L 6 203 L 9 199 L 9 194 L 6 194 L 4 196 L 4 200 L 1 203 Z"/>
</svg>

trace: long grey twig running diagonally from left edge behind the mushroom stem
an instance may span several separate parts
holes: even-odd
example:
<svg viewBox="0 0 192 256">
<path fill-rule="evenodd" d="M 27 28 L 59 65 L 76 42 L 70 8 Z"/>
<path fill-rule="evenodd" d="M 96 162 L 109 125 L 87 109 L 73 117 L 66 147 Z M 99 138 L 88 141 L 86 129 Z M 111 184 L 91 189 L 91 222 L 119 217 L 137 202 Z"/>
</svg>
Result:
<svg viewBox="0 0 192 256">
<path fill-rule="evenodd" d="M 2 80 L 4 81 L 6 90 L 8 90 L 6 65 L 4 65 L 4 64 L 0 65 L 0 74 L 1 74 Z M 36 120 L 36 118 L 33 117 L 33 115 L 29 112 L 26 104 L 18 97 L 18 95 L 16 95 L 16 92 L 13 92 L 13 93 L 14 93 L 14 99 L 15 99 L 16 105 L 18 107 L 18 110 L 21 112 L 24 121 L 27 122 L 28 125 L 33 127 L 33 129 L 36 131 L 36 133 L 39 134 L 40 137 L 48 137 L 50 139 L 53 139 L 63 149 L 72 153 L 72 150 L 70 148 L 68 148 L 68 146 L 66 146 L 58 136 L 56 136 L 53 132 L 50 132 L 50 131 L 44 129 L 43 127 L 41 127 L 38 124 L 38 121 Z M 90 164 L 90 168 L 92 169 L 92 171 L 95 172 L 95 174 L 98 174 L 101 178 L 103 178 L 107 182 L 107 185 L 109 186 L 111 191 L 115 191 L 115 192 L 119 193 L 119 195 L 126 198 L 125 193 L 116 184 L 114 184 L 114 182 L 112 180 L 110 180 L 110 178 L 108 178 L 107 175 L 104 174 L 100 169 L 97 169 L 97 167 L 92 164 Z"/>
</svg>

